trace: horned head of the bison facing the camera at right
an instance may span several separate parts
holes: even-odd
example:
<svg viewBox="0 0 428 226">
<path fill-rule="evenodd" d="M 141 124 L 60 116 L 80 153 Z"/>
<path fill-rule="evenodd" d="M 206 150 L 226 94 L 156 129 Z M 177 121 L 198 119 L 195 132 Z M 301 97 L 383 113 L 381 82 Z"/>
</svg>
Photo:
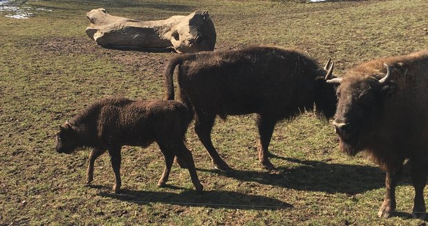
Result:
<svg viewBox="0 0 428 226">
<path fill-rule="evenodd" d="M 391 69 L 384 65 L 386 74 L 351 70 L 342 78 L 327 81 L 340 84 L 336 92 L 338 108 L 333 126 L 340 136 L 342 150 L 349 155 L 364 150 L 367 144 L 364 140 L 372 136 L 371 132 L 380 119 L 382 103 L 393 92 L 393 83 L 389 81 Z M 376 79 L 380 76 L 382 79 Z"/>
</svg>

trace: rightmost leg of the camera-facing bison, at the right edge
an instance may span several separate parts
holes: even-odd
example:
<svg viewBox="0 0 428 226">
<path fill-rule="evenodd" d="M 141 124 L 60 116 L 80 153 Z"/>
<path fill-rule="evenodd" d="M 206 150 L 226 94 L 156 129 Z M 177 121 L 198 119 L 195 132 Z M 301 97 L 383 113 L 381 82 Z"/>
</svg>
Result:
<svg viewBox="0 0 428 226">
<path fill-rule="evenodd" d="M 418 159 L 411 159 L 411 182 L 415 188 L 413 217 L 425 220 L 427 218 L 427 209 L 425 208 L 424 188 L 427 185 L 427 172 L 425 164 Z"/>
</svg>

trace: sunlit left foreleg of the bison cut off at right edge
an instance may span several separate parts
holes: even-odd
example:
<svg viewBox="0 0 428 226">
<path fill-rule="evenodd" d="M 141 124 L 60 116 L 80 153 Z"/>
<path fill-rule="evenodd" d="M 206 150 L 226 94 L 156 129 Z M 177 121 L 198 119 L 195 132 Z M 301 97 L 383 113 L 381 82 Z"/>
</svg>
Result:
<svg viewBox="0 0 428 226">
<path fill-rule="evenodd" d="M 389 218 L 393 211 L 396 210 L 396 185 L 398 181 L 396 169 L 388 169 L 385 178 L 385 186 L 387 187 L 387 194 L 385 200 L 380 206 L 378 216 Z"/>
</svg>

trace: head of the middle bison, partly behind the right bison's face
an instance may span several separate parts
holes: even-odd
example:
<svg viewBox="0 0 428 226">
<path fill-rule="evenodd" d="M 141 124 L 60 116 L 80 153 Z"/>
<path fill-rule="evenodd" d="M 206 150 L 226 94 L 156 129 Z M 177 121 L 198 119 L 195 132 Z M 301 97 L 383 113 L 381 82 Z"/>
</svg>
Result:
<svg viewBox="0 0 428 226">
<path fill-rule="evenodd" d="M 336 111 L 336 103 L 338 103 L 335 96 L 336 86 L 327 83 L 329 79 L 335 78 L 335 76 L 333 76 L 333 67 L 334 63 L 329 59 L 324 66 L 324 70 L 320 70 L 320 75 L 315 79 L 316 113 L 318 116 L 322 116 L 326 119 L 331 119 L 333 117 Z"/>
</svg>

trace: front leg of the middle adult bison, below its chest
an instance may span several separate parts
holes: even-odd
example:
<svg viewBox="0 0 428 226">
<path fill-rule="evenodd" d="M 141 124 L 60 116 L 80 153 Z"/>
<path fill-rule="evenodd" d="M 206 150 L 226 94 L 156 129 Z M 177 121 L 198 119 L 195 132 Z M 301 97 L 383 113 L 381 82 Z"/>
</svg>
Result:
<svg viewBox="0 0 428 226">
<path fill-rule="evenodd" d="M 271 143 L 275 123 L 275 120 L 269 120 L 266 116 L 259 115 L 257 117 L 257 126 L 260 135 L 259 144 L 257 146 L 257 150 L 259 152 L 259 161 L 268 170 L 272 170 L 274 168 L 271 161 L 269 161 L 268 147 L 269 143 Z"/>
</svg>

